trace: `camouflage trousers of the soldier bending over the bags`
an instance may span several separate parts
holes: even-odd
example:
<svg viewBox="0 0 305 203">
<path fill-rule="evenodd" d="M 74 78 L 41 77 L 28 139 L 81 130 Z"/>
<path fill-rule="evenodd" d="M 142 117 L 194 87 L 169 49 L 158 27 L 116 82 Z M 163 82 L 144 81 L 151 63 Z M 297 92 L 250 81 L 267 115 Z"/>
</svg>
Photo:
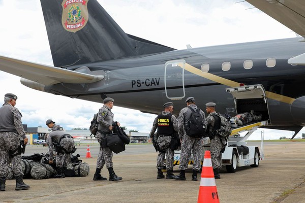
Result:
<svg viewBox="0 0 305 203">
<path fill-rule="evenodd" d="M 68 152 L 71 152 L 74 149 L 74 139 L 72 138 L 64 138 L 60 141 L 60 146 L 62 146 Z M 56 156 L 56 167 L 67 167 L 68 163 L 71 162 L 71 154 L 62 154 L 57 153 Z"/>
</svg>

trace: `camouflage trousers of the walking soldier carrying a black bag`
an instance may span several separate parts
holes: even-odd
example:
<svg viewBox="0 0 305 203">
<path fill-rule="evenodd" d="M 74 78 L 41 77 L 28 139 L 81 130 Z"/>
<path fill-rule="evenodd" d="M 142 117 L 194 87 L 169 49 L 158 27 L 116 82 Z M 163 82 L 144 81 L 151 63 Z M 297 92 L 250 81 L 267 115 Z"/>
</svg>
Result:
<svg viewBox="0 0 305 203">
<path fill-rule="evenodd" d="M 97 168 L 103 168 L 106 164 L 107 168 L 113 167 L 112 162 L 112 151 L 109 149 L 109 147 L 105 147 L 103 145 L 103 134 L 100 132 L 97 132 L 96 139 L 100 143 L 100 152 L 97 159 Z"/>
</svg>

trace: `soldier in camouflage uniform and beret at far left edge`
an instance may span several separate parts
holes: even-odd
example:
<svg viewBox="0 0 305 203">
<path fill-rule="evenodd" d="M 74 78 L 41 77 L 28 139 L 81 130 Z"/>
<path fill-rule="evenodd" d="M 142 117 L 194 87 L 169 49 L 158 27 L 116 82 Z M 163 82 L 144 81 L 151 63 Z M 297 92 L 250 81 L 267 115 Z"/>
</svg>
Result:
<svg viewBox="0 0 305 203">
<path fill-rule="evenodd" d="M 23 182 L 20 138 L 26 145 L 28 139 L 21 122 L 21 113 L 16 105 L 17 96 L 7 93 L 4 96 L 4 105 L 0 108 L 0 191 L 5 191 L 7 166 L 11 160 L 12 170 L 16 178 L 15 190 L 26 190 L 29 186 Z"/>
</svg>

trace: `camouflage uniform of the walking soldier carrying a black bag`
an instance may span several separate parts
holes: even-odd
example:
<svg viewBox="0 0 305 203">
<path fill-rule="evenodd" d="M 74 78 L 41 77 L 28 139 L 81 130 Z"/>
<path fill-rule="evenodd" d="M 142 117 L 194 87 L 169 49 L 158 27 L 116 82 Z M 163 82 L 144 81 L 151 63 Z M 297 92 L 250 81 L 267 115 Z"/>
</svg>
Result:
<svg viewBox="0 0 305 203">
<path fill-rule="evenodd" d="M 107 106 L 103 106 L 98 113 L 97 121 L 99 123 L 99 130 L 96 134 L 96 139 L 100 143 L 100 152 L 97 159 L 97 168 L 103 168 L 105 163 L 106 167 L 113 167 L 112 151 L 109 147 L 105 146 L 106 136 L 111 133 L 109 126 L 113 123 L 113 114 L 111 109 Z"/>
</svg>

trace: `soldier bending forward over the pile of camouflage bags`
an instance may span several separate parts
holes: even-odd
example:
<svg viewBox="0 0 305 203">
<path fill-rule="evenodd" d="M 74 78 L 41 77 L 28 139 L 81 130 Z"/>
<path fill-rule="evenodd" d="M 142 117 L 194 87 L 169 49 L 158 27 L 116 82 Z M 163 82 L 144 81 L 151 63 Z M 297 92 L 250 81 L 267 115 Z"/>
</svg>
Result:
<svg viewBox="0 0 305 203">
<path fill-rule="evenodd" d="M 56 175 L 55 178 L 65 178 L 63 168 L 67 168 L 71 161 L 71 154 L 75 152 L 73 137 L 62 130 L 52 131 L 47 135 L 46 142 L 49 147 L 49 163 L 53 163 L 53 149 L 55 148 L 56 155 Z"/>
</svg>

